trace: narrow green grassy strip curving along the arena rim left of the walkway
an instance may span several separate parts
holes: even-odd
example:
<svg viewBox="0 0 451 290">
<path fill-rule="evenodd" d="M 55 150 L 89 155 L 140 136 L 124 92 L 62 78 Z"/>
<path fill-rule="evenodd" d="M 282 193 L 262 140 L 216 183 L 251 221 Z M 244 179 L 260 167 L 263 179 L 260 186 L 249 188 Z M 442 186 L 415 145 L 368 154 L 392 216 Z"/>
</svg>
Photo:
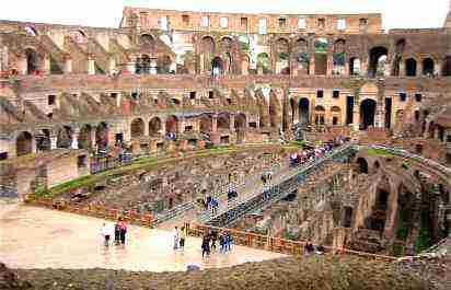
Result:
<svg viewBox="0 0 451 290">
<path fill-rule="evenodd" d="M 259 147 L 265 147 L 265 144 L 259 144 Z M 211 149 L 205 149 L 205 150 L 199 150 L 194 152 L 195 158 L 203 158 L 203 156 L 210 156 L 210 155 L 217 155 L 217 154 L 228 154 L 228 153 L 234 153 L 234 152 L 240 152 L 240 151 L 247 151 L 252 150 L 253 148 L 257 148 L 256 146 L 245 146 L 245 147 L 235 147 L 235 146 L 215 146 Z M 292 147 L 284 147 L 287 149 L 291 149 Z M 48 188 L 48 189 L 38 189 L 34 194 L 32 194 L 30 197 L 53 197 L 56 195 L 59 195 L 61 193 L 72 190 L 80 188 L 82 186 L 90 186 L 93 185 L 108 176 L 114 176 L 114 175 L 122 175 L 122 174 L 127 174 L 130 172 L 134 172 L 136 170 L 149 170 L 158 165 L 162 164 L 167 164 L 171 162 L 177 162 L 182 160 L 183 158 L 173 158 L 173 156 L 143 156 L 135 160 L 131 164 L 120 166 L 117 169 L 108 170 L 105 172 L 101 172 L 94 175 L 86 175 L 79 177 L 77 179 L 72 179 L 70 182 L 57 185 L 55 187 Z"/>
</svg>

